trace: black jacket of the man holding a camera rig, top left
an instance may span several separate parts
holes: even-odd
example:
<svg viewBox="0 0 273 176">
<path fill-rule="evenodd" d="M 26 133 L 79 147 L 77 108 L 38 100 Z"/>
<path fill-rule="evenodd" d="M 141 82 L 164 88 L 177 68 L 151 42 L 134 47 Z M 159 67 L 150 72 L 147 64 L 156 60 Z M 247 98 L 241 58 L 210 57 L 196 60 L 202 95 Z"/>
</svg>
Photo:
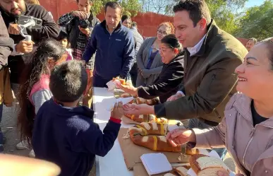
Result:
<svg viewBox="0 0 273 176">
<path fill-rule="evenodd" d="M 25 16 L 33 16 L 34 18 L 42 19 L 42 29 L 38 30 L 27 28 L 28 35 L 31 35 L 32 41 L 35 42 L 36 45 L 41 42 L 43 38 L 58 37 L 59 27 L 56 25 L 51 16 L 49 16 L 49 13 L 44 7 L 36 4 L 25 4 L 25 6 Z M 16 18 L 9 16 L 7 13 L 4 12 L 1 7 L 0 11 L 6 24 L 6 28 L 8 28 L 9 23 L 16 23 Z M 23 37 L 22 35 L 9 36 L 14 40 L 15 44 L 18 44 L 21 40 L 25 40 L 25 37 Z M 11 69 L 12 83 L 19 83 L 20 76 L 23 73 L 23 69 L 25 68 L 25 61 L 27 60 L 29 60 L 29 58 L 26 55 L 8 57 L 8 66 Z"/>
</svg>

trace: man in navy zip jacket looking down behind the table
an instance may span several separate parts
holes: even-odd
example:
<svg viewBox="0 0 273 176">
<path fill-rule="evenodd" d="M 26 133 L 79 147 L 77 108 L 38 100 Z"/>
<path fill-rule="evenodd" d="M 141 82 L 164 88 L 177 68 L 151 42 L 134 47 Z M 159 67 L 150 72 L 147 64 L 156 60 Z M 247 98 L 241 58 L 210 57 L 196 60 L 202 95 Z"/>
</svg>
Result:
<svg viewBox="0 0 273 176">
<path fill-rule="evenodd" d="M 96 25 L 83 60 L 87 63 L 96 52 L 93 86 L 106 87 L 106 83 L 119 76 L 126 78 L 135 56 L 133 33 L 121 25 L 121 6 L 109 1 L 104 7 L 105 20 Z"/>
</svg>

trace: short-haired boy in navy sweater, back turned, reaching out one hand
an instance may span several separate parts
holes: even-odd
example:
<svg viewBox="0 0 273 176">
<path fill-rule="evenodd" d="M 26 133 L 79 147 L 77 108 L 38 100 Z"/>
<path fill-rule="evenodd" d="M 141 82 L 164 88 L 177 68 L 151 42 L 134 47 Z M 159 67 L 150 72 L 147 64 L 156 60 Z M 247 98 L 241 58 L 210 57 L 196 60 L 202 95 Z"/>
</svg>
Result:
<svg viewBox="0 0 273 176">
<path fill-rule="evenodd" d="M 54 98 L 44 102 L 35 118 L 32 146 L 36 158 L 59 165 L 59 176 L 89 175 L 95 155 L 107 155 L 121 127 L 121 102 L 114 106 L 103 132 L 92 121 L 90 108 L 77 107 L 86 86 L 87 74 L 80 61 L 56 66 L 49 83 Z"/>
</svg>

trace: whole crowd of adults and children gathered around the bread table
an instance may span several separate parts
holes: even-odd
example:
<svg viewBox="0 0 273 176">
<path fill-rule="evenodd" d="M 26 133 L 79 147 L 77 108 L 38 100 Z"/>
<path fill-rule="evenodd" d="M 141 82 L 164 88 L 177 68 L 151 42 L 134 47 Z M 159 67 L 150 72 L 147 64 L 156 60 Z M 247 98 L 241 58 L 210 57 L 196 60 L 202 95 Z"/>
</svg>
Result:
<svg viewBox="0 0 273 176">
<path fill-rule="evenodd" d="M 205 1 L 179 1 L 174 23 L 145 40 L 116 1 L 105 4 L 102 21 L 91 0 L 77 4 L 55 22 L 37 0 L 0 0 L 0 122 L 13 91 L 16 148 L 32 147 L 30 157 L 59 165 L 60 175 L 84 176 L 95 155 L 111 150 L 123 114 L 156 115 L 189 119 L 167 134 L 171 145 L 213 149 L 222 159 L 228 151 L 236 176 L 273 174 L 273 38 L 244 46 L 217 26 Z M 31 41 L 20 35 L 22 15 L 42 20 L 41 29 L 23 31 Z M 126 79 L 118 85 L 126 93 L 159 103 L 119 102 L 102 131 L 92 121 L 92 87 L 116 77 Z M 0 153 L 4 142 L 0 129 Z"/>
</svg>

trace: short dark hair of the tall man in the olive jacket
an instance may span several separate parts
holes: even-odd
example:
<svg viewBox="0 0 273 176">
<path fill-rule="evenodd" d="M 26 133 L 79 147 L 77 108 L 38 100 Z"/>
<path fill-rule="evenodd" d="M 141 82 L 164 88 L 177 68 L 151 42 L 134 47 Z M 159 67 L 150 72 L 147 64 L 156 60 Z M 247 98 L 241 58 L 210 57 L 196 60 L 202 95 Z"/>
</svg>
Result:
<svg viewBox="0 0 273 176">
<path fill-rule="evenodd" d="M 174 13 L 178 11 L 188 11 L 188 13 L 190 13 L 190 19 L 193 20 L 194 27 L 202 18 L 207 20 L 207 25 L 209 25 L 212 20 L 210 9 L 205 0 L 181 0 L 174 6 L 173 11 Z"/>
</svg>

